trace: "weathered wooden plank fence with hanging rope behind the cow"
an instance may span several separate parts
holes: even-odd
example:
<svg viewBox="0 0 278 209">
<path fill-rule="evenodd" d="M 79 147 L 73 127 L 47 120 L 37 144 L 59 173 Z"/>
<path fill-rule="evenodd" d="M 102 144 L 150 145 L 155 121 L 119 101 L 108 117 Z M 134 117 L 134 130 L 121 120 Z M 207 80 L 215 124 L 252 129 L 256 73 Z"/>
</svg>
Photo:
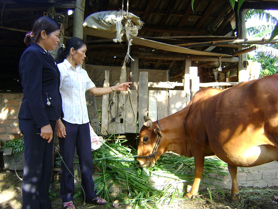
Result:
<svg viewBox="0 0 278 209">
<path fill-rule="evenodd" d="M 101 134 L 125 134 L 136 133 L 136 116 L 138 111 L 139 131 L 144 124 L 144 116 L 149 116 L 152 121 L 156 121 L 167 117 L 182 108 L 184 108 L 199 90 L 200 86 L 218 86 L 218 85 L 236 85 L 237 83 L 215 82 L 215 83 L 199 83 L 197 76 L 197 68 L 189 67 L 189 73 L 184 75 L 184 90 L 169 90 L 171 85 L 167 82 L 160 82 L 163 85 L 149 85 L 148 72 L 139 73 L 138 83 L 138 99 L 137 91 L 111 93 L 104 95 L 102 99 L 102 117 L 101 117 Z M 109 71 L 105 71 L 104 87 L 109 86 Z M 153 88 L 155 86 L 156 88 Z M 149 88 L 152 88 L 149 90 Z M 159 89 L 159 90 L 157 90 Z M 165 90 L 160 90 L 165 89 Z M 114 98 L 114 104 L 111 104 Z M 138 109 L 137 109 L 138 100 Z M 119 102 L 120 101 L 120 102 Z M 111 110 L 111 107 L 124 104 L 125 110 L 121 113 L 121 108 Z M 109 111 L 108 111 L 109 110 Z M 111 110 L 111 111 L 110 111 Z M 117 112 L 115 112 L 117 110 Z M 112 117 L 116 117 L 112 122 Z M 119 116 L 120 115 L 120 116 Z M 107 132 L 106 132 L 107 131 Z"/>
</svg>

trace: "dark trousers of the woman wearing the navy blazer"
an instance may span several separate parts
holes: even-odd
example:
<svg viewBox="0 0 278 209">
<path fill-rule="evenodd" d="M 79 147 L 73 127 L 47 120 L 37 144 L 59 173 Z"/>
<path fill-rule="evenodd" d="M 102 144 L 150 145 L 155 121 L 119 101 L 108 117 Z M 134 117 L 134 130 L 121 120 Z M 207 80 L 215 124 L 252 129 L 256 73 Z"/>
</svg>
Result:
<svg viewBox="0 0 278 209">
<path fill-rule="evenodd" d="M 56 121 L 50 121 L 53 133 Z M 47 143 L 40 134 L 41 129 L 31 119 L 19 119 L 19 129 L 24 136 L 24 158 L 22 180 L 22 209 L 52 208 L 49 186 L 53 169 L 53 140 Z"/>
</svg>

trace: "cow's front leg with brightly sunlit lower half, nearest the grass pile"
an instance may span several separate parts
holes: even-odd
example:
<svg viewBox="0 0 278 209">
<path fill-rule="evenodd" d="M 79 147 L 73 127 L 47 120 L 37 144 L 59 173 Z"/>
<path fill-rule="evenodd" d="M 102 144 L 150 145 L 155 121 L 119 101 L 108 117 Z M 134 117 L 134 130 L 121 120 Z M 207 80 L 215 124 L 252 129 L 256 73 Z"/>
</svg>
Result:
<svg viewBox="0 0 278 209">
<path fill-rule="evenodd" d="M 194 157 L 195 161 L 195 170 L 194 170 L 194 183 L 191 187 L 191 190 L 186 194 L 186 197 L 189 199 L 195 199 L 198 195 L 199 185 L 201 181 L 201 177 L 203 175 L 204 169 L 204 157 Z"/>
</svg>

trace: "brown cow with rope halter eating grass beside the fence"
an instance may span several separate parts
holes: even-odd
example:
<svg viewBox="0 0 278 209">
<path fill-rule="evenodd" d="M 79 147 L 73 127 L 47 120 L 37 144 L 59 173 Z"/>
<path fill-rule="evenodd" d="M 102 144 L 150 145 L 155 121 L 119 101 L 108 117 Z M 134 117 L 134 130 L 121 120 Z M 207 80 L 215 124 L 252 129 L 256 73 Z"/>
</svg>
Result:
<svg viewBox="0 0 278 209">
<path fill-rule="evenodd" d="M 144 117 L 137 158 L 153 167 L 165 152 L 194 157 L 195 179 L 186 194 L 195 198 L 204 157 L 216 155 L 228 164 L 232 200 L 239 200 L 237 166 L 278 160 L 278 74 L 219 90 L 202 88 L 182 110 L 159 121 Z"/>
</svg>

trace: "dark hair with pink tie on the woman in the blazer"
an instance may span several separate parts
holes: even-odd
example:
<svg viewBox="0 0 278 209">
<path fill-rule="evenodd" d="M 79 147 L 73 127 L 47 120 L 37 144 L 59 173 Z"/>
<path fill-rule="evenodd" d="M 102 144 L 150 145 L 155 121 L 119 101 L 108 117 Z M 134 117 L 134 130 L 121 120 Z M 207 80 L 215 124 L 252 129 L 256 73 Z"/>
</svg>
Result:
<svg viewBox="0 0 278 209">
<path fill-rule="evenodd" d="M 59 30 L 60 25 L 50 17 L 40 17 L 33 25 L 31 32 L 27 33 L 24 38 L 24 43 L 29 46 L 31 42 L 37 42 L 41 37 L 41 31 L 45 31 L 46 35 Z"/>
</svg>

